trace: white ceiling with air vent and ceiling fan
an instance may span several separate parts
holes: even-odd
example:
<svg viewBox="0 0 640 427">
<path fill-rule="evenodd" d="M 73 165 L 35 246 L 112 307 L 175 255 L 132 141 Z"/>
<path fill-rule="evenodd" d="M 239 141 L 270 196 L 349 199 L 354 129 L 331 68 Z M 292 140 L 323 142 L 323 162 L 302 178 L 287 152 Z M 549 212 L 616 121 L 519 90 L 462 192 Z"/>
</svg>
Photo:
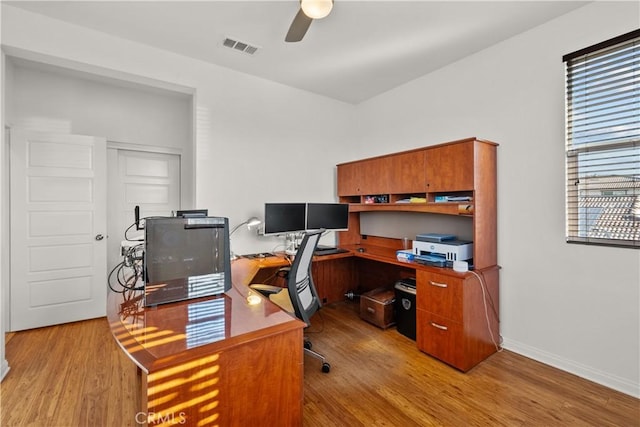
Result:
<svg viewBox="0 0 640 427">
<path fill-rule="evenodd" d="M 299 43 L 284 41 L 297 0 L 3 3 L 357 104 L 586 2 L 335 0 Z"/>
</svg>

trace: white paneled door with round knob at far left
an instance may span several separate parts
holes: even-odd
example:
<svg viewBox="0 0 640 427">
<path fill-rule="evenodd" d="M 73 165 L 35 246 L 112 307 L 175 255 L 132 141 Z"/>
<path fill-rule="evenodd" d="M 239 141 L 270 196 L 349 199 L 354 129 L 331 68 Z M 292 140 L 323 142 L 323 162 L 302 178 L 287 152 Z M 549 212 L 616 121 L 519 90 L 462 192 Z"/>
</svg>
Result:
<svg viewBox="0 0 640 427">
<path fill-rule="evenodd" d="M 106 141 L 10 132 L 12 331 L 106 314 Z"/>
</svg>

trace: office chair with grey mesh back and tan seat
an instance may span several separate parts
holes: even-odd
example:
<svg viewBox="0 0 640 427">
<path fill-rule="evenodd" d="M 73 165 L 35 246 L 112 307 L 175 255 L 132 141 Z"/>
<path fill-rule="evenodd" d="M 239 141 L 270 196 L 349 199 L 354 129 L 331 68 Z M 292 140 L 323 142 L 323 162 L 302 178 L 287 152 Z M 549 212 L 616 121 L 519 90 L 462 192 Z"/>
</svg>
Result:
<svg viewBox="0 0 640 427">
<path fill-rule="evenodd" d="M 306 323 L 307 327 L 311 325 L 309 318 L 321 307 L 320 298 L 311 276 L 311 261 L 323 232 L 324 230 L 318 230 L 305 233 L 287 274 L 286 288 L 264 284 L 250 285 L 251 289 L 268 296 L 283 310 L 295 314 L 298 319 Z M 311 349 L 311 341 L 306 337 L 304 338 L 304 352 L 320 359 L 322 372 L 329 372 L 331 365 L 322 354 Z"/>
</svg>

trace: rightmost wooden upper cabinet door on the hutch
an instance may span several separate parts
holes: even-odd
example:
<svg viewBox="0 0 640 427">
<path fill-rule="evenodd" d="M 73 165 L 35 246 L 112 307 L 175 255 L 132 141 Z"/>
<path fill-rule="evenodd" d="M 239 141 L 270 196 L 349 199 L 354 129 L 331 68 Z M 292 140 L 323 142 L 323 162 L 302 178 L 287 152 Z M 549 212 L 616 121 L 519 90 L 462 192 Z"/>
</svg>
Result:
<svg viewBox="0 0 640 427">
<path fill-rule="evenodd" d="M 427 192 L 473 190 L 474 141 L 425 150 Z"/>
</svg>

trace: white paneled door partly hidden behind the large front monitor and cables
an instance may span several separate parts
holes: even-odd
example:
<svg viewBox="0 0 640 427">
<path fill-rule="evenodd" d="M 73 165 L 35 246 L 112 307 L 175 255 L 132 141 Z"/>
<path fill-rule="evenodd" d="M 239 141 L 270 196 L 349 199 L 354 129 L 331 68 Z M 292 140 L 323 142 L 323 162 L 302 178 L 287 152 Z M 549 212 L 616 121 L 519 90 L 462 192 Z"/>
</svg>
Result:
<svg viewBox="0 0 640 427">
<path fill-rule="evenodd" d="M 121 242 L 143 238 L 143 231 L 133 226 L 136 206 L 140 207 L 140 218 L 170 216 L 180 209 L 180 156 L 120 148 L 109 148 L 107 152 L 107 259 L 111 271 L 123 260 Z"/>
</svg>

